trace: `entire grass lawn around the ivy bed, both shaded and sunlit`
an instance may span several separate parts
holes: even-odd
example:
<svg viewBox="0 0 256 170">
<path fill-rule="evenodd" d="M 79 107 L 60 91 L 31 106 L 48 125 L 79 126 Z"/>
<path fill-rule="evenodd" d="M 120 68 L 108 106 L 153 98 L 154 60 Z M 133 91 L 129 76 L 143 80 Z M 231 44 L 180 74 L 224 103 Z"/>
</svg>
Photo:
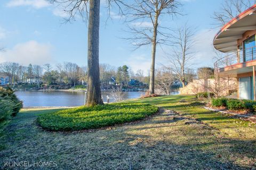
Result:
<svg viewBox="0 0 256 170">
<path fill-rule="evenodd" d="M 44 131 L 37 117 L 58 110 L 22 109 L 4 130 L 1 161 L 52 160 L 58 169 L 256 168 L 255 124 L 207 111 L 193 96 L 130 102 L 165 109 L 143 121 L 86 132 Z"/>
</svg>

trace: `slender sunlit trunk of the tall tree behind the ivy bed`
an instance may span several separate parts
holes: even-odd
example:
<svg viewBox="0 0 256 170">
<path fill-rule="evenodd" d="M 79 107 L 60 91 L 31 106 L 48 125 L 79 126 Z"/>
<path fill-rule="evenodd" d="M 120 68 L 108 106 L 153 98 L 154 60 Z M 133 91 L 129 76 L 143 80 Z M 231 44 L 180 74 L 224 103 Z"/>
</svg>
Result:
<svg viewBox="0 0 256 170">
<path fill-rule="evenodd" d="M 151 52 L 151 67 L 150 67 L 150 80 L 149 80 L 149 94 L 155 94 L 155 58 L 156 58 L 156 36 L 157 36 L 157 26 L 158 26 L 158 14 L 155 16 L 154 24 L 154 35 L 153 35 L 153 44 Z"/>
</svg>

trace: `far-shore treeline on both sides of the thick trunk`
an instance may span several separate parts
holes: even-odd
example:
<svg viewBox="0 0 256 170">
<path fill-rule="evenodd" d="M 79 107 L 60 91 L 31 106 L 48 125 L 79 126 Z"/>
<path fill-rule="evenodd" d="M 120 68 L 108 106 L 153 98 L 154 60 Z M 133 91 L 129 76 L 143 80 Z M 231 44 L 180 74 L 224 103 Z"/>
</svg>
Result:
<svg viewBox="0 0 256 170">
<path fill-rule="evenodd" d="M 0 64 L 0 75 L 8 77 L 8 83 L 15 87 L 22 84 L 36 84 L 37 88 L 58 86 L 58 88 L 75 87 L 77 84 L 87 84 L 87 67 L 78 66 L 76 63 L 63 62 L 51 65 L 23 66 L 19 63 L 5 62 Z M 101 88 L 111 85 L 129 86 L 130 79 L 136 79 L 141 84 L 149 82 L 148 75 L 142 70 L 133 73 L 128 66 L 123 65 L 117 69 L 109 64 L 100 64 Z"/>
</svg>

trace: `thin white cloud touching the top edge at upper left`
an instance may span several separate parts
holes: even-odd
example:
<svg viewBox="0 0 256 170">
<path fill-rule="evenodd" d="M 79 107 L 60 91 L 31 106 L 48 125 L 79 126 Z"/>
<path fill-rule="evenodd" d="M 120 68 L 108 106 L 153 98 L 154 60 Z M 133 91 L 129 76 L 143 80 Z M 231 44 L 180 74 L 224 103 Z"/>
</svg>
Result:
<svg viewBox="0 0 256 170">
<path fill-rule="evenodd" d="M 45 0 L 11 0 L 6 5 L 8 7 L 32 6 L 34 8 L 43 8 L 43 7 L 50 6 L 50 4 Z"/>
</svg>

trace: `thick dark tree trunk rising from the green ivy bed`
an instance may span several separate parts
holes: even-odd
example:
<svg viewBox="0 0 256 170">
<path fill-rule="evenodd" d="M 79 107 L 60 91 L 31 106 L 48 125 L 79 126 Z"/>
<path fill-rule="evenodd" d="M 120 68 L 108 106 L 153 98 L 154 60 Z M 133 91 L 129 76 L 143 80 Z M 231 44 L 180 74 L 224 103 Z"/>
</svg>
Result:
<svg viewBox="0 0 256 170">
<path fill-rule="evenodd" d="M 90 0 L 88 27 L 88 88 L 86 106 L 103 104 L 99 69 L 100 0 Z"/>
</svg>

